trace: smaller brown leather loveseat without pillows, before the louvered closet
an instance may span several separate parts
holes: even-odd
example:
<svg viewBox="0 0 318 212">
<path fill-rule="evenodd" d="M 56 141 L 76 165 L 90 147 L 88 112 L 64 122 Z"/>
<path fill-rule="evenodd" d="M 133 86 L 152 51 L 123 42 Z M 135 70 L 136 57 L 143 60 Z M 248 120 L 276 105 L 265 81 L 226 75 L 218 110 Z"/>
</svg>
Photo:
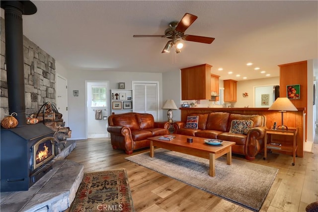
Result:
<svg viewBox="0 0 318 212">
<path fill-rule="evenodd" d="M 113 114 L 108 117 L 107 131 L 114 149 L 123 149 L 126 154 L 149 147 L 148 138 L 169 134 L 168 122 L 155 122 L 148 113 Z"/>
</svg>

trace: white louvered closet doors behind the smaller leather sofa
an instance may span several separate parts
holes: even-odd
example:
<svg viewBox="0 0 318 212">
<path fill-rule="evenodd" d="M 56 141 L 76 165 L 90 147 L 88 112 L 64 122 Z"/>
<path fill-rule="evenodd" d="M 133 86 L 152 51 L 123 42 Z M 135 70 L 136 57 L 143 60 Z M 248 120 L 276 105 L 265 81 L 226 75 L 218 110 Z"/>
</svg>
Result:
<svg viewBox="0 0 318 212">
<path fill-rule="evenodd" d="M 158 85 L 156 83 L 134 83 L 134 112 L 150 113 L 158 120 Z"/>
</svg>

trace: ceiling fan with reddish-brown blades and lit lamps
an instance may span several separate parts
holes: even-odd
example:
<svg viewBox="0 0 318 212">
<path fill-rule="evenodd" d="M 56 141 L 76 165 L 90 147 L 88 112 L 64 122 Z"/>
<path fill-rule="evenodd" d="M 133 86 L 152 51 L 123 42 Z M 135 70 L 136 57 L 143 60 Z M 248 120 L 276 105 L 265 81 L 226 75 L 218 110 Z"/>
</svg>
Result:
<svg viewBox="0 0 318 212">
<path fill-rule="evenodd" d="M 164 31 L 164 35 L 134 35 L 134 38 L 142 37 L 161 37 L 169 38 L 167 44 L 164 46 L 161 53 L 170 52 L 171 47 L 174 45 L 176 53 L 181 52 L 183 44 L 178 40 L 181 38 L 185 41 L 193 41 L 199 43 L 211 44 L 215 38 L 203 37 L 197 35 L 185 35 L 184 31 L 198 18 L 196 15 L 185 13 L 180 22 L 172 21 L 169 23 L 169 28 Z"/>
</svg>

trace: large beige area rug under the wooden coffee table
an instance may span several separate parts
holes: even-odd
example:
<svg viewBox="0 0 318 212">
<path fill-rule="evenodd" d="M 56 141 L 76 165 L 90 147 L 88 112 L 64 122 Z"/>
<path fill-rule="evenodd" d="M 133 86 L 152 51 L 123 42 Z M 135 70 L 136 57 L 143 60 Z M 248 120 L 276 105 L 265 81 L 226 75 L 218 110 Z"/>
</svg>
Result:
<svg viewBox="0 0 318 212">
<path fill-rule="evenodd" d="M 144 152 L 125 159 L 252 211 L 260 210 L 278 173 L 277 168 L 237 159 L 227 165 L 227 158 L 220 157 L 211 177 L 208 159 L 162 148 L 155 150 L 155 157 Z"/>
</svg>

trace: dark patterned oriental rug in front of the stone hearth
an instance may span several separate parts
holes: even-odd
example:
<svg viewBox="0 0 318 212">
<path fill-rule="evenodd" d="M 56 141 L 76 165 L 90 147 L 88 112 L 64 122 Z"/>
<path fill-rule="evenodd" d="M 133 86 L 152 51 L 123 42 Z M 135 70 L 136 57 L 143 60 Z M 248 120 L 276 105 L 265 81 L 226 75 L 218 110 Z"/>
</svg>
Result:
<svg viewBox="0 0 318 212">
<path fill-rule="evenodd" d="M 70 212 L 134 212 L 126 169 L 85 173 Z"/>
</svg>

